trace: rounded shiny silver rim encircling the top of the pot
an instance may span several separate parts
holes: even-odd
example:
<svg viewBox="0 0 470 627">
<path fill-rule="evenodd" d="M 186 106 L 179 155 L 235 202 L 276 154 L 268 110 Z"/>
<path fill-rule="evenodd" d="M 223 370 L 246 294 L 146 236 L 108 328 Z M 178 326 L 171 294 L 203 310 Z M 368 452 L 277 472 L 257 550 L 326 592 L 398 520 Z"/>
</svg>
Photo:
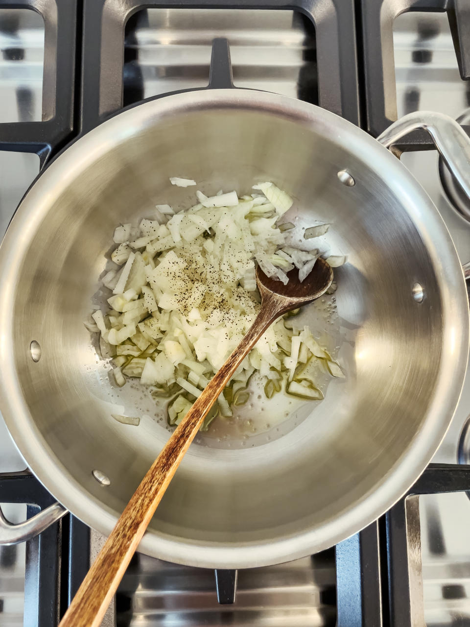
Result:
<svg viewBox="0 0 470 627">
<path fill-rule="evenodd" d="M 400 198 L 424 241 L 441 292 L 444 319 L 442 360 L 436 393 L 427 419 L 399 463 L 395 463 L 377 488 L 363 495 L 354 507 L 315 529 L 279 537 L 269 542 L 233 544 L 191 542 L 152 530 L 140 542 L 139 551 L 170 562 L 201 567 L 256 567 L 303 557 L 318 552 L 377 519 L 413 485 L 431 461 L 444 438 L 456 409 L 466 373 L 469 350 L 469 310 L 461 263 L 444 221 L 420 184 L 389 150 L 366 132 L 315 105 L 256 90 L 201 90 L 157 98 L 128 108 L 103 122 L 73 142 L 41 174 L 19 204 L 0 246 L 0 377 L 1 411 L 21 455 L 39 481 L 73 515 L 104 535 L 110 534 L 117 515 L 91 497 L 71 477 L 48 447 L 29 413 L 14 365 L 13 302 L 18 275 L 36 229 L 51 204 L 50 181 L 63 189 L 77 172 L 97 159 L 130 133 L 144 130 L 152 122 L 201 108 L 244 108 L 281 115 L 315 128 L 336 142 L 353 145 L 355 154 L 377 172 L 387 171 L 390 187 L 400 190 Z M 373 159 L 372 159 L 373 155 Z M 60 181 L 60 184 L 58 184 Z M 59 191 L 56 192 L 60 193 Z M 48 198 L 49 194 L 49 198 Z M 417 210 L 419 207 L 419 211 Z M 426 219 L 422 215 L 426 213 Z M 445 254 L 442 254 L 445 251 Z M 458 324 L 452 325 L 452 320 Z"/>
</svg>

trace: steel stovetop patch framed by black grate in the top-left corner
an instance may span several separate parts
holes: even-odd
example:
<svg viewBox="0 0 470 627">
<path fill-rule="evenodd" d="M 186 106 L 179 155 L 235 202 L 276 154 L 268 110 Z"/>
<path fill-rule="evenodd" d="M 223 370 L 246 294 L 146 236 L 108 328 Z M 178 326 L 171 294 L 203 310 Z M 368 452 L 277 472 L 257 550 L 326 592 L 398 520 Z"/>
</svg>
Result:
<svg viewBox="0 0 470 627">
<path fill-rule="evenodd" d="M 29 9 L 0 8 L 0 120 L 42 119 L 43 18 Z"/>
</svg>

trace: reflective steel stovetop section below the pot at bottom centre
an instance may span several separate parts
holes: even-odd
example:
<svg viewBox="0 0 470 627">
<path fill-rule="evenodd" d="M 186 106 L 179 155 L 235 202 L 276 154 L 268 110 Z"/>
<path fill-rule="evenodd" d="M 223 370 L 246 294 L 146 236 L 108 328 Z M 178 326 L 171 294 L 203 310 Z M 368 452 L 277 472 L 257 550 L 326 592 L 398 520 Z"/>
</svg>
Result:
<svg viewBox="0 0 470 627">
<path fill-rule="evenodd" d="M 137 554 L 117 598 L 129 627 L 334 627 L 334 599 L 333 552 L 239 571 L 232 606 L 217 604 L 214 571 Z"/>
</svg>

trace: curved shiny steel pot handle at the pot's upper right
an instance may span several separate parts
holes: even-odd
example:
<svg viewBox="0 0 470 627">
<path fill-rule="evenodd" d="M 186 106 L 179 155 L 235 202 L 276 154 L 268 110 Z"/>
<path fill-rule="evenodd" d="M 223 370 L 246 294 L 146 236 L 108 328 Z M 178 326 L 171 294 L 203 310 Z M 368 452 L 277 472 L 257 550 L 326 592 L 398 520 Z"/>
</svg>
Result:
<svg viewBox="0 0 470 627">
<path fill-rule="evenodd" d="M 434 111 L 408 113 L 384 130 L 377 140 L 390 148 L 417 129 L 424 129 L 431 135 L 449 171 L 470 198 L 470 138 L 449 115 Z"/>
</svg>

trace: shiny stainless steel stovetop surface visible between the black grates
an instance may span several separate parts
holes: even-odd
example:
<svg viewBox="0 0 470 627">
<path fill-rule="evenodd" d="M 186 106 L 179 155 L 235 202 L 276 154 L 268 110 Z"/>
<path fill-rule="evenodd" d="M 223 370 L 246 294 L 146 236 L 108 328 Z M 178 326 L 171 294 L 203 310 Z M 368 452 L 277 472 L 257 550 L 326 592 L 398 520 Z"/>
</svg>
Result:
<svg viewBox="0 0 470 627">
<path fill-rule="evenodd" d="M 0 3 L 1 4 L 1 3 Z M 300 13 L 232 9 L 149 9 L 128 21 L 124 103 L 204 87 L 214 37 L 227 38 L 234 82 L 316 103 L 315 29 Z M 25 9 L 0 8 L 0 122 L 41 120 L 44 24 Z M 461 115 L 470 107 L 446 14 L 405 13 L 394 23 L 397 113 L 427 109 Z M 313 95 L 312 95 L 313 94 Z M 402 161 L 446 221 L 462 263 L 470 260 L 470 224 L 442 192 L 437 154 L 409 152 Z M 39 171 L 35 154 L 0 151 L 0 231 Z M 456 463 L 470 414 L 470 377 L 451 429 L 434 461 Z M 0 419 L 0 473 L 26 468 Z M 4 508 L 11 520 L 24 505 Z M 420 497 L 425 619 L 429 626 L 470 625 L 470 500 L 465 493 Z M 92 535 L 93 547 L 100 537 Z M 26 551 L 0 548 L 0 625 L 23 624 Z M 26 586 L 28 587 L 28 586 Z M 28 595 L 26 594 L 28 597 Z M 29 603 L 30 599 L 28 599 Z M 332 551 L 288 564 L 239 572 L 233 606 L 219 606 L 212 571 L 138 556 L 117 598 L 118 624 L 137 626 L 334 625 Z M 108 624 L 114 622 L 112 614 Z"/>
</svg>

